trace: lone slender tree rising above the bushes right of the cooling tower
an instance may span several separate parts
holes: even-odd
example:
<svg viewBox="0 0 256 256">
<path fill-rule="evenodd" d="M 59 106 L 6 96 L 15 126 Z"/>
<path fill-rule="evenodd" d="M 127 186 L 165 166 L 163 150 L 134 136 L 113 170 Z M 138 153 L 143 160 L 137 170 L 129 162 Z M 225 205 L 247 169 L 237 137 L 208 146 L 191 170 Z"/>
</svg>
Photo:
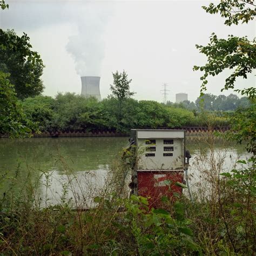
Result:
<svg viewBox="0 0 256 256">
<path fill-rule="evenodd" d="M 128 75 L 125 71 L 113 74 L 113 85 L 110 85 L 110 90 L 112 92 L 112 97 L 116 98 L 119 103 L 119 122 L 122 121 L 122 107 L 125 99 L 130 98 L 135 94 L 135 92 L 130 91 L 130 83 L 132 79 L 128 79 Z"/>
</svg>

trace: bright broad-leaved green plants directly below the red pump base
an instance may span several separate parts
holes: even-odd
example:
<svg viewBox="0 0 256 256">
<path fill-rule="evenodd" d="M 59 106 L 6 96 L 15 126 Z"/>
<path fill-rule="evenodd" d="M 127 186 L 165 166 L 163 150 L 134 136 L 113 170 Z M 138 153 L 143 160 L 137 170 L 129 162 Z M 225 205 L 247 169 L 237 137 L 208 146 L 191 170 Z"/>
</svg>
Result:
<svg viewBox="0 0 256 256">
<path fill-rule="evenodd" d="M 126 204 L 126 218 L 131 223 L 139 255 L 201 254 L 183 204 L 176 201 L 172 212 L 162 208 L 149 210 L 147 205 L 146 198 L 136 196 Z"/>
</svg>

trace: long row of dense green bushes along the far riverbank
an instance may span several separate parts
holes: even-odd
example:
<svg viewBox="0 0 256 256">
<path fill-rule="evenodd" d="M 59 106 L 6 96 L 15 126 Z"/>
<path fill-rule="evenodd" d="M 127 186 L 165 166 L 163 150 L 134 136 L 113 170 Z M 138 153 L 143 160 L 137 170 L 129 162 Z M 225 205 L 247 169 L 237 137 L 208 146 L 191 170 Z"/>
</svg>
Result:
<svg viewBox="0 0 256 256">
<path fill-rule="evenodd" d="M 75 93 L 26 98 L 22 102 L 28 118 L 37 123 L 41 131 L 92 131 L 114 130 L 127 132 L 130 129 L 177 128 L 184 126 L 228 125 L 227 119 L 211 118 L 176 106 L 160 104 L 153 100 L 123 100 L 120 111 L 118 99 L 109 97 L 102 102 L 85 98 Z M 196 114 L 196 115 L 195 115 Z M 210 119 L 209 119 L 210 118 Z"/>
</svg>

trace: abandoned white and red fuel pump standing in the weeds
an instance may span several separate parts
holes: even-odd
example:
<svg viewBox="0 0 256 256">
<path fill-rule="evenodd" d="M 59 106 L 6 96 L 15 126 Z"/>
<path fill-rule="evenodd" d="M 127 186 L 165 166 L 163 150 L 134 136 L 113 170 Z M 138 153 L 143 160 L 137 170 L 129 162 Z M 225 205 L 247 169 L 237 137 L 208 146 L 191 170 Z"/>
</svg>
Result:
<svg viewBox="0 0 256 256">
<path fill-rule="evenodd" d="M 185 130 L 131 130 L 137 146 L 137 164 L 132 174 L 133 193 L 149 198 L 159 207 L 163 196 L 182 193 L 185 170 Z"/>
</svg>

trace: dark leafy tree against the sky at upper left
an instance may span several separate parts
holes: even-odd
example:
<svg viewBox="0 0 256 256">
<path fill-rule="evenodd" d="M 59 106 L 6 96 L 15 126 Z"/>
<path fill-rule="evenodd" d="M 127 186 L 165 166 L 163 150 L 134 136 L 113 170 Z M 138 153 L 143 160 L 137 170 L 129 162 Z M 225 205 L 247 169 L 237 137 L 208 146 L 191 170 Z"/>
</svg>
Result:
<svg viewBox="0 0 256 256">
<path fill-rule="evenodd" d="M 10 82 L 15 85 L 19 99 L 39 95 L 44 89 L 40 78 L 43 61 L 37 52 L 31 50 L 29 41 L 26 33 L 19 37 L 14 30 L 0 29 L 0 70 L 10 73 Z"/>
</svg>

